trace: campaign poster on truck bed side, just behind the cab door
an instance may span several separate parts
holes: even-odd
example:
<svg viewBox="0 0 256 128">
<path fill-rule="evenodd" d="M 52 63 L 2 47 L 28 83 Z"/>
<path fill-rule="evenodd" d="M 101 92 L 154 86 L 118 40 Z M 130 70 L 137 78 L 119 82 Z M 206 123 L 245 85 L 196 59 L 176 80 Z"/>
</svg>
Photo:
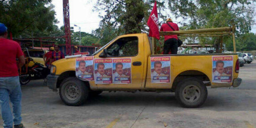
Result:
<svg viewBox="0 0 256 128">
<path fill-rule="evenodd" d="M 171 57 L 150 57 L 151 82 L 171 83 Z"/>
</svg>

